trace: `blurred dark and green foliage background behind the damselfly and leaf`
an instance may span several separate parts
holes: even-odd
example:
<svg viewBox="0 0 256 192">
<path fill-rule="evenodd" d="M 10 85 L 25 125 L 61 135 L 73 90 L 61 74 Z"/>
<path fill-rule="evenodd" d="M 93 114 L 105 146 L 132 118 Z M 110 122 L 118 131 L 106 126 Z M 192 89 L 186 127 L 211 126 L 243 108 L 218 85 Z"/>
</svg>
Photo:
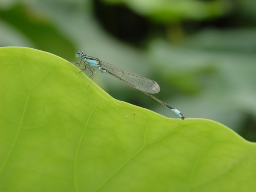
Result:
<svg viewBox="0 0 256 192">
<path fill-rule="evenodd" d="M 256 141 L 256 1 L 2 0 L 0 46 L 25 46 L 77 62 L 84 50 L 158 82 L 160 100 Z M 87 73 L 86 74 L 90 74 Z M 112 97 L 176 118 L 112 76 Z"/>
</svg>

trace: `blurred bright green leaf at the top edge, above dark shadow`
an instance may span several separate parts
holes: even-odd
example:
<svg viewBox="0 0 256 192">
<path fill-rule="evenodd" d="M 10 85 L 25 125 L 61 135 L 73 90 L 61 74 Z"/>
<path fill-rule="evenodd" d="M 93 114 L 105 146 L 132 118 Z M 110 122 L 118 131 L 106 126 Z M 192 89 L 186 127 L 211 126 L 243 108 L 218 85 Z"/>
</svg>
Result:
<svg viewBox="0 0 256 192">
<path fill-rule="evenodd" d="M 126 4 L 134 12 L 152 20 L 169 23 L 186 19 L 218 17 L 230 11 L 229 1 L 200 0 L 103 0 L 111 4 Z"/>
</svg>

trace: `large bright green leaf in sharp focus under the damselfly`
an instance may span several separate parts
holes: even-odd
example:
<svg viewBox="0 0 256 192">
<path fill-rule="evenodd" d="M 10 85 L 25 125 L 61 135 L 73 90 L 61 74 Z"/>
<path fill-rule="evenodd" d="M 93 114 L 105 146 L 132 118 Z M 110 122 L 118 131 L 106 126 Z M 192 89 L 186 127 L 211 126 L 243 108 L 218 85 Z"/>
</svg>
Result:
<svg viewBox="0 0 256 192">
<path fill-rule="evenodd" d="M 0 191 L 256 188 L 256 145 L 222 124 L 120 102 L 30 48 L 0 48 L 0 72 Z"/>
</svg>

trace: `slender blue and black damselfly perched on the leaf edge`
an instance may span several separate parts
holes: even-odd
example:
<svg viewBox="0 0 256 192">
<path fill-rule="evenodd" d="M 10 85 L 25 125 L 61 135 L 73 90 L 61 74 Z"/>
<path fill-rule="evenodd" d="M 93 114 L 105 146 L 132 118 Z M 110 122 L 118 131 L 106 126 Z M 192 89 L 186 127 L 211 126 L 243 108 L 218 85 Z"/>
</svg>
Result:
<svg viewBox="0 0 256 192">
<path fill-rule="evenodd" d="M 93 67 L 95 67 L 98 70 L 100 70 L 100 72 L 110 74 L 110 75 L 118 78 L 122 82 L 132 86 L 133 88 L 136 88 L 136 89 L 140 90 L 141 92 L 144 92 L 148 96 L 152 97 L 154 100 L 156 100 L 156 101 L 160 102 L 162 105 L 166 106 L 168 109 L 170 109 L 172 112 L 174 112 L 174 114 L 176 114 L 179 118 L 184 120 L 185 117 L 181 114 L 181 112 L 179 110 L 175 109 L 174 107 L 169 106 L 165 102 L 162 102 L 158 98 L 151 95 L 152 93 L 158 93 L 160 91 L 160 87 L 157 84 L 157 82 L 150 80 L 148 78 L 144 78 L 142 76 L 138 76 L 136 74 L 130 73 L 128 71 L 124 71 L 114 65 L 102 62 L 96 57 L 91 57 L 91 56 L 84 54 L 83 51 L 78 51 L 76 53 L 76 58 L 80 59 L 80 61 L 78 63 L 72 63 L 72 64 L 74 64 L 76 66 L 80 66 L 81 62 L 83 62 L 85 68 L 82 69 L 81 72 L 85 71 L 85 70 L 90 70 L 92 72 L 92 75 L 91 75 L 92 79 L 96 73 L 95 69 L 93 68 Z M 90 76 L 90 78 L 91 78 L 91 76 Z M 90 84 L 89 84 L 89 86 L 90 86 Z"/>
</svg>

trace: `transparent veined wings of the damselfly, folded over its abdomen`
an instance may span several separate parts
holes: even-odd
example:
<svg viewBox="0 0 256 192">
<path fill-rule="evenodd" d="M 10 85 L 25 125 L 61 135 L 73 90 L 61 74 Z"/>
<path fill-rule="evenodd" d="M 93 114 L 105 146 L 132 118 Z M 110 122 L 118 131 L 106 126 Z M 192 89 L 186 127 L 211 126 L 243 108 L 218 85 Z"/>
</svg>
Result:
<svg viewBox="0 0 256 192">
<path fill-rule="evenodd" d="M 146 93 L 158 93 L 160 91 L 159 85 L 153 80 L 124 71 L 109 63 L 100 61 L 99 64 L 103 70 L 107 70 L 108 74 L 120 79 L 138 90 L 142 90 Z"/>
</svg>

